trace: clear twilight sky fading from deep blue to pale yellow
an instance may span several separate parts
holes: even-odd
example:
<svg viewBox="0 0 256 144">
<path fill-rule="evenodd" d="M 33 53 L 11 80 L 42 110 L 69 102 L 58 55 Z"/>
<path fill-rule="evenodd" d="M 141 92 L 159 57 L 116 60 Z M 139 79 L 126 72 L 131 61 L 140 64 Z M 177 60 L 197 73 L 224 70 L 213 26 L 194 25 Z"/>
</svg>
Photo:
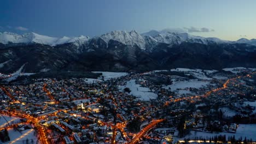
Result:
<svg viewBox="0 0 256 144">
<path fill-rule="evenodd" d="M 2 0 L 0 31 L 93 37 L 178 29 L 225 40 L 256 38 L 254 0 Z"/>
</svg>

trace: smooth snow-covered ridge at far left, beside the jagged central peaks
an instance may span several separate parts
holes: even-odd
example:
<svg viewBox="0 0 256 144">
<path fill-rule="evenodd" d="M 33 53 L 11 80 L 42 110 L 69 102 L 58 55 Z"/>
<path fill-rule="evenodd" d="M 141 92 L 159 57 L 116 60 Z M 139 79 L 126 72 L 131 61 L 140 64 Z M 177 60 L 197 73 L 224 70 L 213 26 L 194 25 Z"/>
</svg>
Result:
<svg viewBox="0 0 256 144">
<path fill-rule="evenodd" d="M 62 38 L 55 38 L 55 37 L 49 37 L 45 35 L 40 35 L 37 33 L 25 33 L 22 35 L 16 34 L 16 33 L 10 33 L 10 32 L 4 32 L 0 33 L 0 43 L 8 44 L 8 43 L 37 43 L 37 44 L 45 44 L 50 46 L 65 44 L 65 43 L 73 43 L 75 41 L 79 41 L 81 43 L 88 40 L 89 37 L 80 36 L 80 37 L 62 37 Z"/>
</svg>

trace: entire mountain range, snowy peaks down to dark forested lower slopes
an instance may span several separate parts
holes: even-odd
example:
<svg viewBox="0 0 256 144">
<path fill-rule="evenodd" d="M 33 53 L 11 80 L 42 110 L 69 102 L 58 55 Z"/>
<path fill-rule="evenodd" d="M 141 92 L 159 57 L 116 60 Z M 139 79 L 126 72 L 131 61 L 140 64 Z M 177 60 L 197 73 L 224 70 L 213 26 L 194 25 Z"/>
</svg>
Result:
<svg viewBox="0 0 256 144">
<path fill-rule="evenodd" d="M 99 37 L 0 34 L 0 72 L 147 71 L 256 67 L 256 46 L 187 33 L 113 31 Z"/>
</svg>

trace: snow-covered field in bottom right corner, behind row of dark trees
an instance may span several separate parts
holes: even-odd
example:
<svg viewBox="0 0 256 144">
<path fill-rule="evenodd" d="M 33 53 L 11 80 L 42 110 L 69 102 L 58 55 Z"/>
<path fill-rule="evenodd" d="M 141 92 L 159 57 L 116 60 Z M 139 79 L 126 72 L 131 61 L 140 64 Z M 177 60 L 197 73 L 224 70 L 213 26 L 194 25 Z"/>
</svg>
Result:
<svg viewBox="0 0 256 144">
<path fill-rule="evenodd" d="M 191 131 L 190 135 L 185 136 L 184 139 L 193 139 L 195 136 L 202 136 L 207 139 L 215 135 L 226 135 L 226 139 L 228 139 L 228 136 L 235 135 L 237 140 L 242 136 L 242 139 L 245 139 L 246 137 L 247 140 L 252 139 L 253 141 L 256 141 L 256 124 L 239 124 L 238 128 L 236 129 L 236 133 L 205 133 L 201 131 Z"/>
</svg>

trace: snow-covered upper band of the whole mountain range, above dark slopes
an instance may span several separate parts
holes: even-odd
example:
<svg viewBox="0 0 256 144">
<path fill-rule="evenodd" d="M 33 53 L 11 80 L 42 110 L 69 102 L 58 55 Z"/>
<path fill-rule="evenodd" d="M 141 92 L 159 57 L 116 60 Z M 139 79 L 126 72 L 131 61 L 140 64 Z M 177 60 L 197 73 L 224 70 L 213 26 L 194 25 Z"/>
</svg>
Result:
<svg viewBox="0 0 256 144">
<path fill-rule="evenodd" d="M 25 33 L 22 35 L 0 32 L 0 43 L 2 44 L 44 44 L 50 46 L 56 46 L 66 43 L 73 43 L 77 46 L 87 44 L 92 39 L 102 39 L 107 44 L 109 40 L 119 41 L 125 45 L 137 45 L 142 50 L 152 50 L 152 47 L 159 43 L 165 44 L 181 44 L 182 42 L 200 43 L 200 44 L 223 44 L 223 43 L 246 43 L 250 45 L 256 45 L 256 39 L 248 40 L 245 38 L 237 41 L 222 40 L 219 38 L 204 38 L 200 36 L 190 35 L 188 33 L 178 33 L 171 31 L 149 31 L 147 33 L 139 34 L 136 31 L 112 31 L 106 34 L 102 34 L 99 37 L 89 38 L 81 35 L 79 37 L 62 37 L 55 38 L 37 33 Z"/>
</svg>

